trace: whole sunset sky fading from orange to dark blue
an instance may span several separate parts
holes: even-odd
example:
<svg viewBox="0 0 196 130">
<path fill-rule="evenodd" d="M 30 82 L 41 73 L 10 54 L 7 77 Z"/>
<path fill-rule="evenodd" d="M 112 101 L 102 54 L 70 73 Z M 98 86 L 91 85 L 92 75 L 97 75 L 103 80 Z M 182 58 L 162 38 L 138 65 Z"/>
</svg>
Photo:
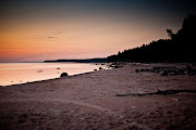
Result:
<svg viewBox="0 0 196 130">
<path fill-rule="evenodd" d="M 107 57 L 169 38 L 192 0 L 1 0 L 0 62 Z"/>
</svg>

